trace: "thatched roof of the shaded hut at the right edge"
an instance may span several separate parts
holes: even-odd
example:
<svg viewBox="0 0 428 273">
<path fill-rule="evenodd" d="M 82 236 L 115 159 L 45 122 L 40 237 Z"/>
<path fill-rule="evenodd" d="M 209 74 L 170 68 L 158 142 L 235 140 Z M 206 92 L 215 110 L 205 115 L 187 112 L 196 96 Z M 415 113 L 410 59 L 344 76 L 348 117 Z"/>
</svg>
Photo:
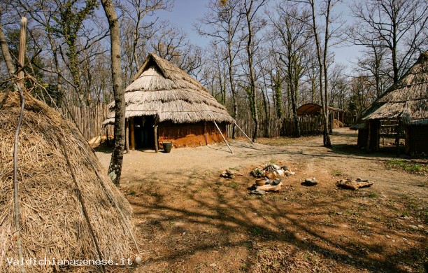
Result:
<svg viewBox="0 0 428 273">
<path fill-rule="evenodd" d="M 401 118 L 406 124 L 428 124 L 428 52 L 363 114 L 362 120 Z"/>
</svg>

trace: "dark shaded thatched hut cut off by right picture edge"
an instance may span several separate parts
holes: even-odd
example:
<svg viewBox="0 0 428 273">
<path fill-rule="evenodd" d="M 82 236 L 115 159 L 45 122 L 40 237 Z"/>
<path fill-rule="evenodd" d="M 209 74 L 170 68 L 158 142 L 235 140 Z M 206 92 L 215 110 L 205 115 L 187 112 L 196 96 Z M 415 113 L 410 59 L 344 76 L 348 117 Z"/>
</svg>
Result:
<svg viewBox="0 0 428 273">
<path fill-rule="evenodd" d="M 428 153 L 428 52 L 363 113 L 354 128 L 359 130 L 358 146 L 369 151 L 378 151 L 385 131 L 397 141 L 406 139 L 406 153 Z"/>
</svg>

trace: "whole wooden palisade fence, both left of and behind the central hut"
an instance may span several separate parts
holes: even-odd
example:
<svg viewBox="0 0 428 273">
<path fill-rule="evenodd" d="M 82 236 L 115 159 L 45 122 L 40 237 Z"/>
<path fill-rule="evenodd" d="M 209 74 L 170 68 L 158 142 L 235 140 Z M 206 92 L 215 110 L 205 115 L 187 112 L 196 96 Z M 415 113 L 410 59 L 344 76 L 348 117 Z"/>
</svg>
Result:
<svg viewBox="0 0 428 273">
<path fill-rule="evenodd" d="M 113 125 L 102 127 L 102 122 L 106 120 L 108 115 L 107 104 L 94 104 L 92 106 L 68 106 L 59 109 L 62 115 L 75 121 L 78 129 L 82 132 L 85 139 L 88 141 L 94 137 L 101 135 L 113 136 Z M 341 118 L 342 120 L 342 118 Z M 343 116 L 345 125 L 355 123 L 356 116 L 348 113 Z M 241 129 L 252 137 L 255 123 L 251 119 L 236 119 L 236 123 Z M 301 116 L 299 117 L 301 135 L 321 134 L 322 133 L 322 118 L 320 116 Z M 227 125 L 227 137 L 232 137 L 232 125 Z M 266 134 L 267 133 L 267 134 Z M 259 132 L 257 137 L 280 137 L 292 136 L 296 133 L 293 118 L 270 118 L 269 120 L 259 120 Z M 236 128 L 236 136 L 244 137 L 242 132 Z"/>
</svg>

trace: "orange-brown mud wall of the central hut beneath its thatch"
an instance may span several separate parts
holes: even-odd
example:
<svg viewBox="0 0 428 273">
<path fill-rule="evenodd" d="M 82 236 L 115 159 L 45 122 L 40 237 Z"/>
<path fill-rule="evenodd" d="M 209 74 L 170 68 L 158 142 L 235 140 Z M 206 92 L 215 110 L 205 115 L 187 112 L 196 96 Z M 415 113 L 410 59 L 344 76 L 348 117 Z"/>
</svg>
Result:
<svg viewBox="0 0 428 273">
<path fill-rule="evenodd" d="M 226 137 L 226 124 L 217 123 Z M 214 123 L 160 123 L 158 127 L 159 144 L 173 141 L 174 147 L 194 147 L 222 142 L 222 136 Z"/>
</svg>

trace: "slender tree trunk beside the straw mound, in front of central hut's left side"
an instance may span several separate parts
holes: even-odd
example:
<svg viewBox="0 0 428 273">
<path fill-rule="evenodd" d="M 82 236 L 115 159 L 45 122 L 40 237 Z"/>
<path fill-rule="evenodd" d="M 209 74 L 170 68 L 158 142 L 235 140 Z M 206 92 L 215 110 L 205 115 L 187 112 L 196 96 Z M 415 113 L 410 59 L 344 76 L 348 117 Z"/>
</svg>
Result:
<svg viewBox="0 0 428 273">
<path fill-rule="evenodd" d="M 125 103 L 120 67 L 120 28 L 117 14 L 111 0 L 101 0 L 110 29 L 111 73 L 115 96 L 115 144 L 108 166 L 108 176 L 116 186 L 120 184 L 124 149 Z"/>
</svg>

